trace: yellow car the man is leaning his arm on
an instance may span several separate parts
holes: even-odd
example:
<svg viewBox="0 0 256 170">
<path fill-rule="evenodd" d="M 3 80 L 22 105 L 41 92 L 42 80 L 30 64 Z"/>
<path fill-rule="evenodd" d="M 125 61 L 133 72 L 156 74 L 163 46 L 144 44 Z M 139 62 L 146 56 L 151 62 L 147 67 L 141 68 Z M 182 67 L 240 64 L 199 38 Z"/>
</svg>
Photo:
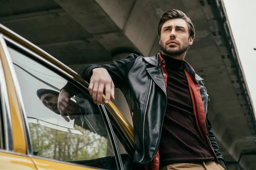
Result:
<svg viewBox="0 0 256 170">
<path fill-rule="evenodd" d="M 76 112 L 62 117 L 56 101 L 67 84 Z M 112 102 L 94 104 L 87 88 L 76 72 L 0 25 L 0 169 L 139 169 L 133 127 Z"/>
</svg>

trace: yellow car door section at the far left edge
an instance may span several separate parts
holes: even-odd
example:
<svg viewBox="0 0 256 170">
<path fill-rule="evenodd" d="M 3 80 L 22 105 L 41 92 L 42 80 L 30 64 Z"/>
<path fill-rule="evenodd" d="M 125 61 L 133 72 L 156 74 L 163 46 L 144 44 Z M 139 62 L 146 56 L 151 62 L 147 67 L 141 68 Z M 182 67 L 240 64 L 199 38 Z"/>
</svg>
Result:
<svg viewBox="0 0 256 170">
<path fill-rule="evenodd" d="M 14 82 L 6 59 L 6 44 L 0 34 L 0 169 L 36 170 L 26 155 L 26 140 Z"/>
</svg>

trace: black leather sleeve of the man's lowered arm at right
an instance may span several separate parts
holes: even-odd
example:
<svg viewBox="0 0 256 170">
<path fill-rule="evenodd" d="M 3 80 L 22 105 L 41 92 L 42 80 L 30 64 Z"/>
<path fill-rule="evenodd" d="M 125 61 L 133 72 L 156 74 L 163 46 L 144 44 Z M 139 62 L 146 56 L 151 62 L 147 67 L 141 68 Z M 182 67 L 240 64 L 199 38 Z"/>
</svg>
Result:
<svg viewBox="0 0 256 170">
<path fill-rule="evenodd" d="M 227 170 L 227 168 L 225 167 L 225 160 L 219 150 L 219 147 L 218 147 L 218 144 L 216 142 L 216 139 L 215 139 L 215 136 L 213 135 L 211 129 L 212 129 L 212 124 L 211 122 L 209 121 L 209 119 L 207 118 L 207 125 L 208 125 L 208 134 L 209 134 L 209 139 L 210 139 L 210 142 L 212 144 L 212 147 L 213 147 L 213 150 L 218 158 L 218 161 L 219 161 L 219 164 L 224 167 L 225 170 Z"/>
</svg>

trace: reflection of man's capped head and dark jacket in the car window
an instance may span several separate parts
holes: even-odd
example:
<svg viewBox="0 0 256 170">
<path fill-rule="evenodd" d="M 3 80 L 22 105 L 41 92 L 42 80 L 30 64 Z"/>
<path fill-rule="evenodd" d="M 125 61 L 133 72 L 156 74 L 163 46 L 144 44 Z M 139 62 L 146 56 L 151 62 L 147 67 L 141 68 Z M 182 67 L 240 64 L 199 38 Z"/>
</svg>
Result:
<svg viewBox="0 0 256 170">
<path fill-rule="evenodd" d="M 37 96 L 41 99 L 41 102 L 45 107 L 49 108 L 54 113 L 60 114 L 58 111 L 58 91 L 50 89 L 38 89 Z M 67 122 L 74 120 L 74 125 L 83 127 L 91 132 L 97 133 L 101 136 L 108 137 L 108 132 L 104 124 L 104 120 L 99 112 L 99 109 L 95 107 L 95 104 L 90 103 L 91 99 L 86 99 L 85 95 L 79 94 L 76 96 L 76 102 L 70 100 L 70 110 L 65 113 L 65 119 Z"/>
</svg>

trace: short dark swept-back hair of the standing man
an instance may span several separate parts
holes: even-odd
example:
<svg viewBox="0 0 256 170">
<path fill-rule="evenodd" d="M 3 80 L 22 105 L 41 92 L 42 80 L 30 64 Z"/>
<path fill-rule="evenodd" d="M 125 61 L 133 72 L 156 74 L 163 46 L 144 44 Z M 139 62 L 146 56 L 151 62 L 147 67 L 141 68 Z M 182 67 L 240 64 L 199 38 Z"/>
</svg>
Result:
<svg viewBox="0 0 256 170">
<path fill-rule="evenodd" d="M 158 23 L 158 31 L 157 31 L 158 36 L 159 37 L 161 36 L 161 29 L 163 27 L 163 24 L 167 20 L 178 19 L 178 18 L 181 18 L 186 21 L 186 23 L 188 24 L 188 27 L 189 27 L 189 37 L 192 36 L 193 39 L 195 39 L 195 27 L 194 27 L 192 21 L 190 20 L 189 17 L 186 16 L 186 14 L 184 14 L 182 11 L 177 10 L 177 9 L 172 9 L 172 10 L 166 11 L 162 15 L 162 17 Z"/>
</svg>

